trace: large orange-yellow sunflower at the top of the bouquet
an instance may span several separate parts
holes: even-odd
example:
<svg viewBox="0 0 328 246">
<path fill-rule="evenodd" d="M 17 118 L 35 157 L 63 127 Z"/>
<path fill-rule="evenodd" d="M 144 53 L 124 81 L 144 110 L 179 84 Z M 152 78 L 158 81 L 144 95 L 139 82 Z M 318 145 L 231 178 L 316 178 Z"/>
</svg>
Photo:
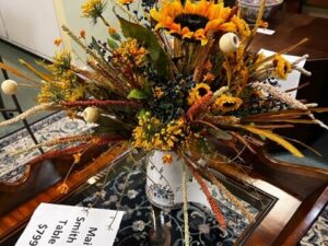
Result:
<svg viewBox="0 0 328 246">
<path fill-rule="evenodd" d="M 236 31 L 236 25 L 230 23 L 231 9 L 224 8 L 223 2 L 200 0 L 192 2 L 186 0 L 167 1 L 157 11 L 151 10 L 151 16 L 157 22 L 155 30 L 165 28 L 171 34 L 181 38 L 200 40 L 201 45 L 208 43 L 209 31 Z"/>
</svg>

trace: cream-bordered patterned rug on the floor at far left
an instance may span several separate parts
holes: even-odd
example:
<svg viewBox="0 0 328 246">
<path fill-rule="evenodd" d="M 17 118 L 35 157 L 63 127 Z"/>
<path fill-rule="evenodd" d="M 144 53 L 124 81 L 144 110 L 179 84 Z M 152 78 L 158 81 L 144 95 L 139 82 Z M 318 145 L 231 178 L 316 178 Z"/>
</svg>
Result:
<svg viewBox="0 0 328 246">
<path fill-rule="evenodd" d="M 40 143 L 54 138 L 89 131 L 91 128 L 92 125 L 79 119 L 72 120 L 61 112 L 31 126 L 37 141 Z M 26 129 L 19 130 L 0 140 L 0 181 L 13 183 L 21 178 L 24 173 L 24 165 L 39 155 L 40 151 L 36 149 L 17 155 L 12 153 L 33 145 L 34 142 Z M 50 148 L 43 148 L 43 150 L 46 152 Z"/>
</svg>

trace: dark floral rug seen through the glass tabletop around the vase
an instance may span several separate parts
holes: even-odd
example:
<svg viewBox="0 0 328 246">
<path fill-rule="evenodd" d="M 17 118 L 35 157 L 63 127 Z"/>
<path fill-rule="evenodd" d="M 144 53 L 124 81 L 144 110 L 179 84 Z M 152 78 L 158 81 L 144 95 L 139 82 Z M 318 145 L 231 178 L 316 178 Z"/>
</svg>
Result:
<svg viewBox="0 0 328 246">
<path fill-rule="evenodd" d="M 172 246 L 184 246 L 184 212 L 181 208 L 162 210 L 156 220 L 159 237 L 152 237 L 152 206 L 145 195 L 145 175 L 139 169 L 126 169 L 108 181 L 104 192 L 95 192 L 85 198 L 78 206 L 102 209 L 117 209 L 126 211 L 120 229 L 115 239 L 115 246 L 151 246 L 166 245 L 171 237 Z M 190 202 L 188 207 L 190 245 L 192 246 L 232 246 L 248 226 L 248 222 L 241 212 L 216 188 L 211 190 L 219 207 L 227 221 L 227 230 L 222 230 L 213 213 L 200 203 Z M 259 211 L 251 204 L 244 202 L 253 215 Z"/>
</svg>

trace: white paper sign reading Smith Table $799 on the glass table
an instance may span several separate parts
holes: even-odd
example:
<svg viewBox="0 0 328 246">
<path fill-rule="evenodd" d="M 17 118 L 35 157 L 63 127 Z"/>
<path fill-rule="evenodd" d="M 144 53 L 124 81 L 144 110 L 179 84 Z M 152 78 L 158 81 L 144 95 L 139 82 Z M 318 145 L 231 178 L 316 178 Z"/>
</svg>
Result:
<svg viewBox="0 0 328 246">
<path fill-rule="evenodd" d="M 42 203 L 15 246 L 112 246 L 122 211 Z"/>
</svg>

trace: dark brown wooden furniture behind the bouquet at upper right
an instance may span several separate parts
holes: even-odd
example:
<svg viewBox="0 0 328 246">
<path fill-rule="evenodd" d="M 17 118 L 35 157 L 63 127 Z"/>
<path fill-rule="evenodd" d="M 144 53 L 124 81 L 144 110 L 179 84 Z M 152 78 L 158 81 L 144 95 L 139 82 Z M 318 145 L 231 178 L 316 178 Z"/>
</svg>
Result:
<svg viewBox="0 0 328 246">
<path fill-rule="evenodd" d="M 309 82 L 309 85 L 297 91 L 297 99 L 307 99 L 318 103 L 320 107 L 328 107 L 328 19 L 314 17 L 304 14 L 280 12 L 269 22 L 269 28 L 276 31 L 273 35 L 257 34 L 251 43 L 251 49 L 260 48 L 280 51 L 283 48 L 297 44 L 303 38 L 308 42 L 298 46 L 290 55 L 309 55 L 305 68 L 312 72 L 312 77 L 301 77 L 300 85 Z M 327 115 L 317 115 L 321 120 L 327 120 Z M 326 121 L 328 122 L 328 121 Z M 327 132 L 314 125 L 297 126 L 295 129 L 281 130 L 280 133 L 298 139 L 312 144 L 318 137 Z"/>
</svg>

